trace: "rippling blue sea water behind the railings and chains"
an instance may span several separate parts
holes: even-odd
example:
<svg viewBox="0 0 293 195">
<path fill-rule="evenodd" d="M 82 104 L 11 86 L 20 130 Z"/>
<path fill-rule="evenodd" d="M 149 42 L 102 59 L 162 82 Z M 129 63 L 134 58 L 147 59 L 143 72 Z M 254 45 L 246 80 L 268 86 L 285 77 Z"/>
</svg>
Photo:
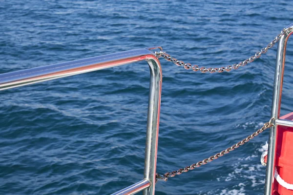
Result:
<svg viewBox="0 0 293 195">
<path fill-rule="evenodd" d="M 0 2 L 0 73 L 152 46 L 199 66 L 227 66 L 293 23 L 286 0 Z M 292 46 L 282 115 L 293 111 Z M 222 74 L 160 59 L 158 173 L 218 153 L 270 119 L 276 48 Z M 0 194 L 107 195 L 140 181 L 148 86 L 142 62 L 0 92 Z M 158 182 L 156 195 L 263 194 L 268 135 Z"/>
</svg>

